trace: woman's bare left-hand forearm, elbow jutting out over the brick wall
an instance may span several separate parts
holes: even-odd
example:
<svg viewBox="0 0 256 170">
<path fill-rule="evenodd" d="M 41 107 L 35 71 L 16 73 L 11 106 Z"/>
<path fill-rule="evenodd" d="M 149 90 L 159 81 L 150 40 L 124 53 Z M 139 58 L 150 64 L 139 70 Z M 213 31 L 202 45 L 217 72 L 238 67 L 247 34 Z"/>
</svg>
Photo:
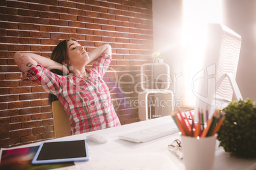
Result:
<svg viewBox="0 0 256 170">
<path fill-rule="evenodd" d="M 31 69 L 32 67 L 36 67 L 36 65 L 39 63 L 46 69 L 58 69 L 68 73 L 68 69 L 66 69 L 64 65 L 57 63 L 50 58 L 33 53 L 15 53 L 14 60 L 22 72 L 27 72 L 27 70 Z"/>
</svg>

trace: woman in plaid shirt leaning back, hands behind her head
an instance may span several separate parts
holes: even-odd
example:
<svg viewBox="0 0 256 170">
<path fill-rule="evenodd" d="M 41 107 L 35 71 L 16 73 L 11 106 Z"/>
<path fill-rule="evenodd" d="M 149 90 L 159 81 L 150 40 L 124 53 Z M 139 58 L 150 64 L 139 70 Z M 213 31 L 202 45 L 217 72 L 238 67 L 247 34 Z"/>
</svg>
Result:
<svg viewBox="0 0 256 170">
<path fill-rule="evenodd" d="M 120 126 L 110 91 L 103 81 L 111 62 L 109 44 L 87 54 L 75 39 L 67 39 L 56 46 L 51 59 L 32 53 L 15 53 L 14 60 L 27 79 L 38 82 L 57 96 L 69 115 L 71 134 Z M 91 69 L 85 69 L 95 60 Z M 68 75 L 53 74 L 48 69 Z"/>
</svg>

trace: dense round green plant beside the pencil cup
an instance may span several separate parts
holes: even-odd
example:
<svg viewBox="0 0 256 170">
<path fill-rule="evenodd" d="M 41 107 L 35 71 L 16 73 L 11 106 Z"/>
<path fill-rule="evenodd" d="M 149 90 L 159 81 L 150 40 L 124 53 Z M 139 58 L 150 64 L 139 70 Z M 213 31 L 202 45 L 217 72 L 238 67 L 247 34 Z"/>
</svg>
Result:
<svg viewBox="0 0 256 170">
<path fill-rule="evenodd" d="M 255 102 L 232 101 L 223 112 L 225 121 L 217 133 L 220 146 L 238 157 L 256 157 Z"/>
</svg>

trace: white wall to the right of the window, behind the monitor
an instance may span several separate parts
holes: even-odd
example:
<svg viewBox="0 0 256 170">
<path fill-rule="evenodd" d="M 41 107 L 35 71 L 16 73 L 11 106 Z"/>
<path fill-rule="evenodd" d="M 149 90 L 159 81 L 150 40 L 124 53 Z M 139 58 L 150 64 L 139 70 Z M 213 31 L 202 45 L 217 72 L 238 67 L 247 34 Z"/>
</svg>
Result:
<svg viewBox="0 0 256 170">
<path fill-rule="evenodd" d="M 256 0 L 225 0 L 224 24 L 242 37 L 236 81 L 243 98 L 256 101 Z"/>
</svg>

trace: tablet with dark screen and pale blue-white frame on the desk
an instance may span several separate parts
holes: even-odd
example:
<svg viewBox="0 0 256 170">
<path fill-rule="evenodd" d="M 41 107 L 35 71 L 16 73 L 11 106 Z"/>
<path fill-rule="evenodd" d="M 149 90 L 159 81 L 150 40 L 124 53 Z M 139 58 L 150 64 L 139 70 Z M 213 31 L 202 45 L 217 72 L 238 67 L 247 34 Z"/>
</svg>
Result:
<svg viewBox="0 0 256 170">
<path fill-rule="evenodd" d="M 53 164 L 89 160 L 87 140 L 43 141 L 32 164 Z"/>
</svg>

